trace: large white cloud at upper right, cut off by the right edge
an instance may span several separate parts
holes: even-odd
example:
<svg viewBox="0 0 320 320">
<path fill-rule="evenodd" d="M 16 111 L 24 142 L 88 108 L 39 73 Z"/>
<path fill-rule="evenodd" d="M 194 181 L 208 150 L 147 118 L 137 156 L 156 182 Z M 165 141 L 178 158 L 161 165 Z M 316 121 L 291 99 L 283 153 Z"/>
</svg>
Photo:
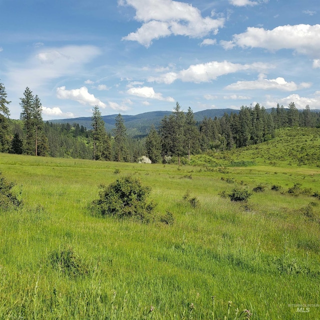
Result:
<svg viewBox="0 0 320 320">
<path fill-rule="evenodd" d="M 293 49 L 298 53 L 320 56 L 320 24 L 277 26 L 272 30 L 248 27 L 234 34 L 233 42 L 241 47 L 260 47 L 271 51 Z"/>
</svg>

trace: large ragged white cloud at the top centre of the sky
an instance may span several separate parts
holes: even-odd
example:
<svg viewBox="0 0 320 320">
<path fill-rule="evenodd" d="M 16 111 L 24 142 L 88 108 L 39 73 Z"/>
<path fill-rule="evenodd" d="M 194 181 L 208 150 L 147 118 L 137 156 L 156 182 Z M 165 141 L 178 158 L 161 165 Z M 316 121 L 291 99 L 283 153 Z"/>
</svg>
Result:
<svg viewBox="0 0 320 320">
<path fill-rule="evenodd" d="M 198 8 L 173 0 L 118 0 L 119 5 L 129 5 L 135 10 L 135 20 L 142 22 L 135 32 L 123 37 L 148 47 L 153 39 L 173 35 L 203 37 L 216 34 L 223 27 L 224 18 L 202 17 Z"/>
</svg>

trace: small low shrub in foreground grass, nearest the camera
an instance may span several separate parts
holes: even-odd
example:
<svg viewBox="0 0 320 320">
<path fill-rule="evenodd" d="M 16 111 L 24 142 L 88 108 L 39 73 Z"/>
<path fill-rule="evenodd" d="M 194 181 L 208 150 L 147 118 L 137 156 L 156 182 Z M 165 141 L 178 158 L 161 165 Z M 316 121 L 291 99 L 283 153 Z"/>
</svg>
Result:
<svg viewBox="0 0 320 320">
<path fill-rule="evenodd" d="M 66 275 L 76 276 L 88 273 L 88 267 L 70 246 L 52 251 L 48 260 L 54 268 Z"/>
</svg>

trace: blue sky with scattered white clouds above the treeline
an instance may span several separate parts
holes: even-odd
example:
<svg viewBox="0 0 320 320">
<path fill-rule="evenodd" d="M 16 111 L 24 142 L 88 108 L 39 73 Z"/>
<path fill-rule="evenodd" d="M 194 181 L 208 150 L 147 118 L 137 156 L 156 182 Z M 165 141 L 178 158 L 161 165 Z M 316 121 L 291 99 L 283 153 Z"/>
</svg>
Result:
<svg viewBox="0 0 320 320">
<path fill-rule="evenodd" d="M 320 109 L 318 0 L 0 0 L 11 118 L 28 86 L 43 119 L 171 110 Z"/>
</svg>

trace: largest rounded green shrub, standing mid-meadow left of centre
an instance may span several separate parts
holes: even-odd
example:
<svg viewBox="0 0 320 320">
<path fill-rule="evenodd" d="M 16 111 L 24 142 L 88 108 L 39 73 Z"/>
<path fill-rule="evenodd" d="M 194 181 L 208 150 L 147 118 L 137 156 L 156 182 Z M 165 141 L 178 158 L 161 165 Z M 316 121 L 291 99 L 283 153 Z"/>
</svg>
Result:
<svg viewBox="0 0 320 320">
<path fill-rule="evenodd" d="M 154 208 L 154 204 L 147 201 L 150 191 L 137 177 L 129 174 L 107 186 L 100 185 L 99 198 L 92 204 L 102 216 L 133 217 L 148 222 Z"/>
</svg>

